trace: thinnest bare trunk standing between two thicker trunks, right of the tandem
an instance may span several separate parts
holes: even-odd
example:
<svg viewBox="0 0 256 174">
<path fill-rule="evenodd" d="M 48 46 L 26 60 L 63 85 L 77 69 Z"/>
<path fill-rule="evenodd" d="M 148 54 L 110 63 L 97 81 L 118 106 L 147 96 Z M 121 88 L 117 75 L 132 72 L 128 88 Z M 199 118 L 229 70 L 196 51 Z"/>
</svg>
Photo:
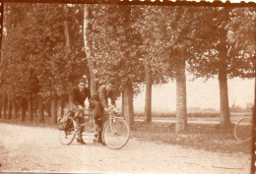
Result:
<svg viewBox="0 0 256 174">
<path fill-rule="evenodd" d="M 145 122 L 152 122 L 152 72 L 150 65 L 145 64 L 146 71 L 146 99 L 145 99 Z"/>
</svg>

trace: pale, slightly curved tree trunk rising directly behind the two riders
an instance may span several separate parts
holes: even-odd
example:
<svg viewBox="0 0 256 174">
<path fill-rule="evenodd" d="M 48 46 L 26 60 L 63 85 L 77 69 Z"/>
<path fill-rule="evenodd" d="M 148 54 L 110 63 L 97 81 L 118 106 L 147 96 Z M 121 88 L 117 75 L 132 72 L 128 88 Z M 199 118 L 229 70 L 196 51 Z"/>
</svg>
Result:
<svg viewBox="0 0 256 174">
<path fill-rule="evenodd" d="M 89 32 L 88 30 L 90 29 L 89 27 L 89 19 L 91 14 L 91 8 L 89 5 L 85 4 L 84 7 L 84 44 L 85 44 L 85 52 L 87 55 L 87 62 L 89 66 L 89 72 L 90 72 L 90 89 L 91 89 L 91 94 L 93 95 L 96 93 L 97 89 L 97 82 L 96 82 L 96 72 L 95 72 L 95 63 L 92 58 L 92 52 L 90 48 L 90 43 L 88 41 L 89 38 Z"/>
</svg>

